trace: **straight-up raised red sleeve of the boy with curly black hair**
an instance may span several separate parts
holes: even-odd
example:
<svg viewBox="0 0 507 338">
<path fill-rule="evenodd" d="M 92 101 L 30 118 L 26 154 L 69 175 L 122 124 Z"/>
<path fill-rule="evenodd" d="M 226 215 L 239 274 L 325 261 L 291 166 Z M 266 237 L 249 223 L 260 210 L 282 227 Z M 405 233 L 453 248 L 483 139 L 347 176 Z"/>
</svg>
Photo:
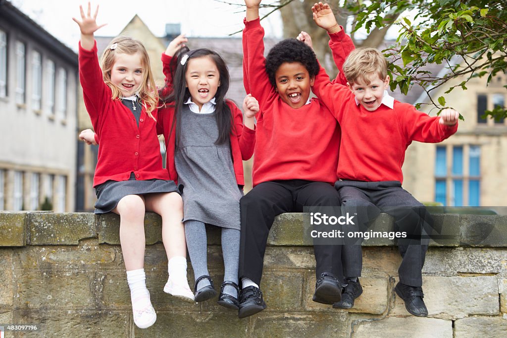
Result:
<svg viewBox="0 0 507 338">
<path fill-rule="evenodd" d="M 264 28 L 261 26 L 259 18 L 251 21 L 246 21 L 245 19 L 244 24 L 243 85 L 247 94 L 252 94 L 253 97 L 259 100 L 259 105 L 262 108 L 264 106 L 263 103 L 270 96 L 277 95 L 266 73 L 263 41 Z"/>
</svg>

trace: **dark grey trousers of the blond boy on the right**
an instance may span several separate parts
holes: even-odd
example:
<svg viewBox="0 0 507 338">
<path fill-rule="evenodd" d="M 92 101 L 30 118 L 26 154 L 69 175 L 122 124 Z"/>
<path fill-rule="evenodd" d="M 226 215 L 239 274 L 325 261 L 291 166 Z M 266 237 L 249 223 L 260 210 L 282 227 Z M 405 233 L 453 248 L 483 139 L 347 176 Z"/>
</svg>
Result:
<svg viewBox="0 0 507 338">
<path fill-rule="evenodd" d="M 403 284 L 422 286 L 422 266 L 429 241 L 424 234 L 433 228 L 433 221 L 424 205 L 404 190 L 399 181 L 338 181 L 335 187 L 340 195 L 342 212 L 358 215 L 359 230 L 367 229 L 369 223 L 384 212 L 394 217 L 395 231 L 409 234 L 407 239 L 399 239 L 397 243 L 403 258 L 398 274 Z M 363 258 L 360 243 L 344 245 L 341 257 L 344 276 L 361 275 Z"/>
</svg>

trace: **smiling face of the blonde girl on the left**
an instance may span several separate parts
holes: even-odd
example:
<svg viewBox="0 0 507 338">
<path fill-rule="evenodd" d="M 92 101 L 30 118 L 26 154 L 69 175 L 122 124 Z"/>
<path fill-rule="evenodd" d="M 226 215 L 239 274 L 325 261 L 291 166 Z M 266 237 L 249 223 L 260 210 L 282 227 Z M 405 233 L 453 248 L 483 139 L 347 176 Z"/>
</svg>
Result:
<svg viewBox="0 0 507 338">
<path fill-rule="evenodd" d="M 124 97 L 132 96 L 144 81 L 144 67 L 139 53 L 117 53 L 111 68 L 111 82 Z"/>
</svg>

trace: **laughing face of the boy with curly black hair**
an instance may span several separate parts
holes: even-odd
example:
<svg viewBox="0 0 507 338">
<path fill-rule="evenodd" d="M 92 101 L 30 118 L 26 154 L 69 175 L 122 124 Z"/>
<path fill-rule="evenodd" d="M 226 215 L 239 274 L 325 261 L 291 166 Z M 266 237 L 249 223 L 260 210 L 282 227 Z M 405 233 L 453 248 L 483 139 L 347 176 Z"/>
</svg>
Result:
<svg viewBox="0 0 507 338">
<path fill-rule="evenodd" d="M 314 80 L 300 62 L 283 62 L 275 72 L 276 91 L 282 101 L 294 109 L 306 104 Z"/>
</svg>

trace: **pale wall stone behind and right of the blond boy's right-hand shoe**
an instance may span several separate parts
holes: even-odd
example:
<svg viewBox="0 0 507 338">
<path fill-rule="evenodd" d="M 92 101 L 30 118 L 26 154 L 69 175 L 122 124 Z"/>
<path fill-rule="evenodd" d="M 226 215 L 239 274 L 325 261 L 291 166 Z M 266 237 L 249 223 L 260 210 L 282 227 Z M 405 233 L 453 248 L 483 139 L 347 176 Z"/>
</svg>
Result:
<svg viewBox="0 0 507 338">
<path fill-rule="evenodd" d="M 494 276 L 423 276 L 422 288 L 429 317 L 458 319 L 499 314 L 498 285 Z M 390 316 L 410 316 L 400 297 L 395 296 L 394 302 Z"/>
</svg>

